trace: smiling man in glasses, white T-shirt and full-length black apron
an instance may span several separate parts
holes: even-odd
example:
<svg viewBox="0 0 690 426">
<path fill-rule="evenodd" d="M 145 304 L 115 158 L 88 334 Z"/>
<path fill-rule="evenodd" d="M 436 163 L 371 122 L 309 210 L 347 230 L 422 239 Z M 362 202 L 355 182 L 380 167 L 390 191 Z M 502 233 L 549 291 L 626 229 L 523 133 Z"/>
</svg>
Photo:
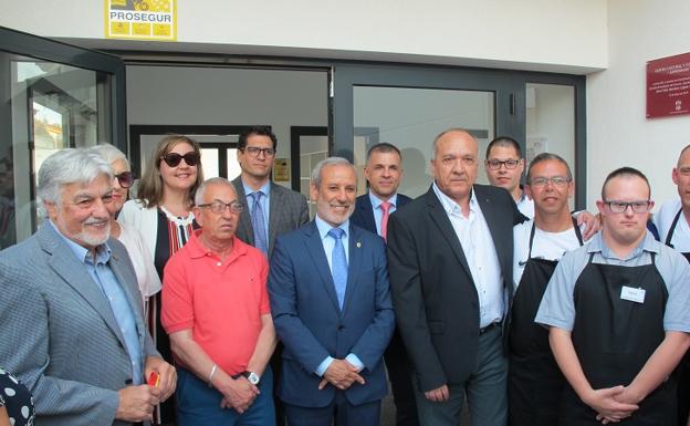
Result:
<svg viewBox="0 0 690 426">
<path fill-rule="evenodd" d="M 548 346 L 548 331 L 534 323 L 534 315 L 558 260 L 581 247 L 583 237 L 568 209 L 575 185 L 563 158 L 550 153 L 534 157 L 524 190 L 534 200 L 534 219 L 513 228 L 509 423 L 551 426 L 558 424 L 565 380 Z"/>
</svg>

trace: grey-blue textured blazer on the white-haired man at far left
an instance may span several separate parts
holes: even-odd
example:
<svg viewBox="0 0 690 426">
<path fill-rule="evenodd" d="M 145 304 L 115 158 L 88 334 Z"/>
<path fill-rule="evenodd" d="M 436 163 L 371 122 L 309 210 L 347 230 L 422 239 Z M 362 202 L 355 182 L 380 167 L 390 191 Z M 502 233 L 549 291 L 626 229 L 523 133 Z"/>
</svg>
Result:
<svg viewBox="0 0 690 426">
<path fill-rule="evenodd" d="M 140 356 L 160 356 L 127 250 L 114 239 L 108 246 Z M 36 425 L 129 425 L 114 420 L 117 392 L 132 383 L 126 342 L 106 297 L 52 226 L 0 252 L 0 360 L 31 389 Z"/>
</svg>

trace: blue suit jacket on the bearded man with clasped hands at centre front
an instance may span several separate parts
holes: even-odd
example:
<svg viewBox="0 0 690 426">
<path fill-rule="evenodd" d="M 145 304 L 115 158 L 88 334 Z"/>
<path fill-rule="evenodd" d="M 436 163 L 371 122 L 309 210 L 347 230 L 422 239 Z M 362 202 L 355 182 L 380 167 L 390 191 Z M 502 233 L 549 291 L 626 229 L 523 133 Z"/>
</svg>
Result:
<svg viewBox="0 0 690 426">
<path fill-rule="evenodd" d="M 341 311 L 321 235 L 314 221 L 279 237 L 271 258 L 269 297 L 275 332 L 284 344 L 280 398 L 302 407 L 324 407 L 336 394 L 318 391 L 314 372 L 330 355 L 354 353 L 364 363 L 364 385 L 345 391 L 353 405 L 387 393 L 381 357 L 395 315 L 388 287 L 384 240 L 357 226 L 349 227 L 347 289 Z"/>
</svg>

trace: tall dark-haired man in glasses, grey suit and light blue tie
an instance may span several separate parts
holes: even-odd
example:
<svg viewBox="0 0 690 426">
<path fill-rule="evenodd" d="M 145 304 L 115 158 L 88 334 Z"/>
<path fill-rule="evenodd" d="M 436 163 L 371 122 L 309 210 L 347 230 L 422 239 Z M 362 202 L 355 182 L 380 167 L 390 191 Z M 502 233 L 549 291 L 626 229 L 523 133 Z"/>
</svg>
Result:
<svg viewBox="0 0 690 426">
<path fill-rule="evenodd" d="M 275 237 L 309 221 L 306 198 L 271 181 L 278 138 L 266 126 L 248 128 L 240 135 L 238 163 L 242 174 L 232 180 L 239 199 L 247 206 L 240 216 L 237 236 L 269 258 Z"/>
</svg>

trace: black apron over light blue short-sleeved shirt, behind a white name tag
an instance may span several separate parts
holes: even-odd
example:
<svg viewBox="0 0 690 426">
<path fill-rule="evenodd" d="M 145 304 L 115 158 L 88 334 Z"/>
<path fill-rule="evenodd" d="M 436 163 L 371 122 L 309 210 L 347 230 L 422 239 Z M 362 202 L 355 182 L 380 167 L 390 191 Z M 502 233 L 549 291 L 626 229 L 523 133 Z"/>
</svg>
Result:
<svg viewBox="0 0 690 426">
<path fill-rule="evenodd" d="M 655 263 L 620 267 L 589 262 L 577 278 L 573 299 L 572 339 L 585 377 L 593 388 L 627 386 L 666 335 L 663 314 L 668 290 Z M 621 288 L 644 289 L 644 303 L 620 298 Z M 675 426 L 676 382 L 669 378 L 639 405 L 625 426 Z M 600 425 L 597 413 L 566 385 L 562 426 Z"/>
</svg>

